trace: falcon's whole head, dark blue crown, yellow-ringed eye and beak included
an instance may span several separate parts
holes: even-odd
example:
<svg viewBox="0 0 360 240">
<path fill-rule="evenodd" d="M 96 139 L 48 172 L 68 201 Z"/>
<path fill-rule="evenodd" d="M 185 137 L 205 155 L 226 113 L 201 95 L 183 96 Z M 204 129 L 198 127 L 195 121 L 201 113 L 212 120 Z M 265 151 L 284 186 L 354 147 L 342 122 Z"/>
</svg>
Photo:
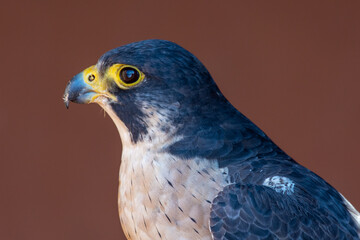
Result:
<svg viewBox="0 0 360 240">
<path fill-rule="evenodd" d="M 219 96 L 194 55 L 172 42 L 147 40 L 105 53 L 69 82 L 64 100 L 67 106 L 69 101 L 98 103 L 136 143 L 156 124 L 154 119 L 162 122 L 161 131 L 168 131 L 182 116 L 196 114 L 196 106 Z"/>
</svg>

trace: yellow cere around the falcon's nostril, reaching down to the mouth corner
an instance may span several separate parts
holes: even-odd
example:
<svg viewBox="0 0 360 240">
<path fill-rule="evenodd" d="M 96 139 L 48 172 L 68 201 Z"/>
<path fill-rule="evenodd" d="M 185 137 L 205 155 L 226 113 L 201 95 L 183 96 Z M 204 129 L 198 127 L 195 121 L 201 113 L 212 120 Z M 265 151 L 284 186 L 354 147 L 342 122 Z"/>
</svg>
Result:
<svg viewBox="0 0 360 240">
<path fill-rule="evenodd" d="M 116 100 L 116 97 L 107 91 L 106 81 L 104 81 L 103 79 L 100 79 L 100 75 L 99 75 L 95 65 L 90 66 L 83 71 L 83 78 L 84 78 L 84 81 L 87 84 L 89 84 L 92 87 L 92 89 L 97 93 L 91 99 L 91 102 L 94 102 L 95 99 L 98 98 L 99 96 L 105 96 L 107 98 Z"/>
</svg>

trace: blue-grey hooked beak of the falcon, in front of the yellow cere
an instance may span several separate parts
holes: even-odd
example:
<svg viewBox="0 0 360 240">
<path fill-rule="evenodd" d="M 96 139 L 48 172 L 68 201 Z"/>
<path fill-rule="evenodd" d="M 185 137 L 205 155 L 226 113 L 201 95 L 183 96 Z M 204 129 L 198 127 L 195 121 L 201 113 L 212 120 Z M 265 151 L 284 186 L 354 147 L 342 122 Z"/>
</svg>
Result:
<svg viewBox="0 0 360 240">
<path fill-rule="evenodd" d="M 70 102 L 91 103 L 99 94 L 84 81 L 84 73 L 75 75 L 67 84 L 64 93 L 64 103 L 69 108 Z"/>
</svg>

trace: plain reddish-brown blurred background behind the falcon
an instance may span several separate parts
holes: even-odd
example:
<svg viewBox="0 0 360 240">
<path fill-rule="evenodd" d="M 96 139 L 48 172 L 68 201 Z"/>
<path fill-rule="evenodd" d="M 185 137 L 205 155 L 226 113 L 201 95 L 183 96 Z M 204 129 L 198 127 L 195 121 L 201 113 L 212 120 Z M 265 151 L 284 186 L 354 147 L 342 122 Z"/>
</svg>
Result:
<svg viewBox="0 0 360 240">
<path fill-rule="evenodd" d="M 12 2 L 12 3 L 10 3 Z M 67 81 L 133 41 L 179 43 L 227 98 L 360 209 L 359 1 L 7 1 L 0 239 L 121 239 L 120 139 Z"/>
</svg>

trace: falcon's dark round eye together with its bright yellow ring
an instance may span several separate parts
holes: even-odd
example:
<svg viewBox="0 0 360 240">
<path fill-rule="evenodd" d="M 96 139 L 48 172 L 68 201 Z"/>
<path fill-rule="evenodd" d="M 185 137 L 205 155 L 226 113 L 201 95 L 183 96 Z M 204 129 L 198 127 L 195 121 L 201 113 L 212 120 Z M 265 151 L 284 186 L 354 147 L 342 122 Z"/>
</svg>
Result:
<svg viewBox="0 0 360 240">
<path fill-rule="evenodd" d="M 121 89 L 129 89 L 139 84 L 145 77 L 137 67 L 125 64 L 112 65 L 108 73 Z"/>
</svg>

